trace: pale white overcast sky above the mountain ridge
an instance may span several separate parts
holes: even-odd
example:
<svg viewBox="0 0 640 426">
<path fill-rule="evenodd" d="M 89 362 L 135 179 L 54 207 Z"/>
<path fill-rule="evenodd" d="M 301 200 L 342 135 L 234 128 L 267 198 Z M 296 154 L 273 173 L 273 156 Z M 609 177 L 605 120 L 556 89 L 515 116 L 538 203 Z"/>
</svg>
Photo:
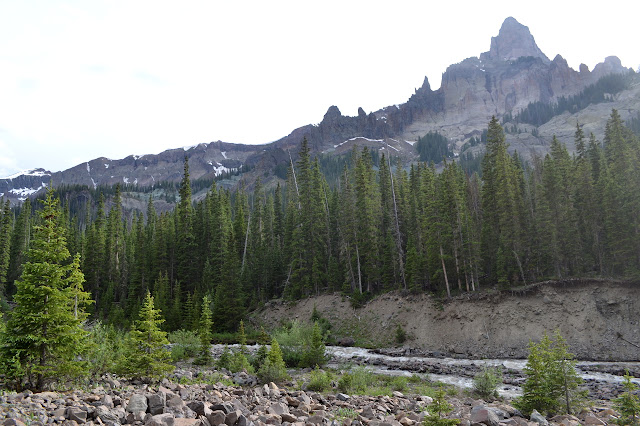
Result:
<svg viewBox="0 0 640 426">
<path fill-rule="evenodd" d="M 0 0 L 0 177 L 222 140 L 268 143 L 404 103 L 504 19 L 574 69 L 637 70 L 633 2 Z"/>
</svg>

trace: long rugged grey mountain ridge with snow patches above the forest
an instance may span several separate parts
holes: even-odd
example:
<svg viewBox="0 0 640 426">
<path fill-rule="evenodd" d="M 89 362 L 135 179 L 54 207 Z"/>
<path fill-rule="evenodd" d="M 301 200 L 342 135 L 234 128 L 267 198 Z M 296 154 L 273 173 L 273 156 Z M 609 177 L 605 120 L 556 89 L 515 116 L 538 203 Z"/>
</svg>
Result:
<svg viewBox="0 0 640 426">
<path fill-rule="evenodd" d="M 227 142 L 203 143 L 164 151 L 157 155 L 130 155 L 120 160 L 97 158 L 70 169 L 51 173 L 42 169 L 0 179 L 0 196 L 20 202 L 54 185 L 86 185 L 96 188 L 116 183 L 151 187 L 159 182 L 177 182 L 182 176 L 183 159 L 189 158 L 192 179 L 225 178 L 221 184 L 233 186 L 240 177 L 248 183 L 260 176 L 263 182 L 279 179 L 276 168 L 296 160 L 301 140 L 306 137 L 314 154 L 342 155 L 354 146 L 389 152 L 405 164 L 417 161 L 413 144 L 428 132 L 437 131 L 452 143 L 454 152 L 470 150 L 467 142 L 486 129 L 491 116 L 512 119 L 531 103 L 554 104 L 578 95 L 599 79 L 611 74 L 632 73 L 616 57 L 608 57 L 592 71 L 568 66 L 558 55 L 550 60 L 536 45 L 529 29 L 514 18 L 507 18 L 498 35 L 492 37 L 489 51 L 449 66 L 439 89 L 432 90 L 425 77 L 423 85 L 400 105 L 367 114 L 362 108 L 354 117 L 344 116 L 331 106 L 318 125 L 306 125 L 265 145 Z M 640 84 L 607 97 L 609 102 L 591 104 L 576 112 L 554 116 L 539 126 L 507 120 L 512 150 L 523 158 L 548 151 L 555 134 L 570 149 L 576 123 L 585 131 L 601 132 L 612 108 L 622 119 L 636 117 L 640 110 Z M 601 138 L 602 135 L 596 133 Z"/>
</svg>

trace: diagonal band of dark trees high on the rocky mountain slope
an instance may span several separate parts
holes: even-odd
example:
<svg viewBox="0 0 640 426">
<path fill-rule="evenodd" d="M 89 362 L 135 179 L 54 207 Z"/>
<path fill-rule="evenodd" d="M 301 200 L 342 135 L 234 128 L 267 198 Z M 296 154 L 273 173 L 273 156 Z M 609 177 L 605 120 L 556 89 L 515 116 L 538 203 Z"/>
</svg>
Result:
<svg viewBox="0 0 640 426">
<path fill-rule="evenodd" d="M 568 98 L 562 96 L 557 102 L 551 104 L 541 101 L 532 102 L 515 116 L 509 113 L 503 119 L 504 122 L 513 121 L 515 123 L 540 126 L 563 112 L 568 111 L 573 114 L 591 104 L 606 102 L 611 95 L 628 89 L 637 79 L 638 75 L 633 71 L 623 74 L 609 74 L 601 77 L 594 84 L 587 86 L 577 95 L 569 96 Z"/>
</svg>

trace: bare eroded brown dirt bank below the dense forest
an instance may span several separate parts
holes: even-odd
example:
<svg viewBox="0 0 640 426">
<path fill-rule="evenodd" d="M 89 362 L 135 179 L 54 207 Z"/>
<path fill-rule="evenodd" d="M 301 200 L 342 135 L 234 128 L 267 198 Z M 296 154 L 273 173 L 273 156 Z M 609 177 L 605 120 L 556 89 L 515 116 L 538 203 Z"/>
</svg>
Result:
<svg viewBox="0 0 640 426">
<path fill-rule="evenodd" d="M 269 302 L 251 321 L 267 329 L 308 321 L 314 306 L 330 321 L 336 339 L 351 337 L 359 346 L 393 346 L 400 326 L 408 336 L 405 347 L 435 356 L 526 358 L 530 340 L 559 329 L 578 359 L 640 360 L 640 282 L 553 281 L 449 301 L 394 292 L 360 309 L 331 294 Z"/>
</svg>

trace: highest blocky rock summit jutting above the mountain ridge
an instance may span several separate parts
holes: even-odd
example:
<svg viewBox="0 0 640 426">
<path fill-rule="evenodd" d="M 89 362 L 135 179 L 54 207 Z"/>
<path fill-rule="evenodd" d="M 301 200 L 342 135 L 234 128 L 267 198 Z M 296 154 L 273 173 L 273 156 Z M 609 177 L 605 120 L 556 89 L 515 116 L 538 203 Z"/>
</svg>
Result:
<svg viewBox="0 0 640 426">
<path fill-rule="evenodd" d="M 491 48 L 482 54 L 481 59 L 510 61 L 523 56 L 533 56 L 545 63 L 550 62 L 536 44 L 529 28 L 508 17 L 502 23 L 498 35 L 491 37 Z"/>
</svg>

